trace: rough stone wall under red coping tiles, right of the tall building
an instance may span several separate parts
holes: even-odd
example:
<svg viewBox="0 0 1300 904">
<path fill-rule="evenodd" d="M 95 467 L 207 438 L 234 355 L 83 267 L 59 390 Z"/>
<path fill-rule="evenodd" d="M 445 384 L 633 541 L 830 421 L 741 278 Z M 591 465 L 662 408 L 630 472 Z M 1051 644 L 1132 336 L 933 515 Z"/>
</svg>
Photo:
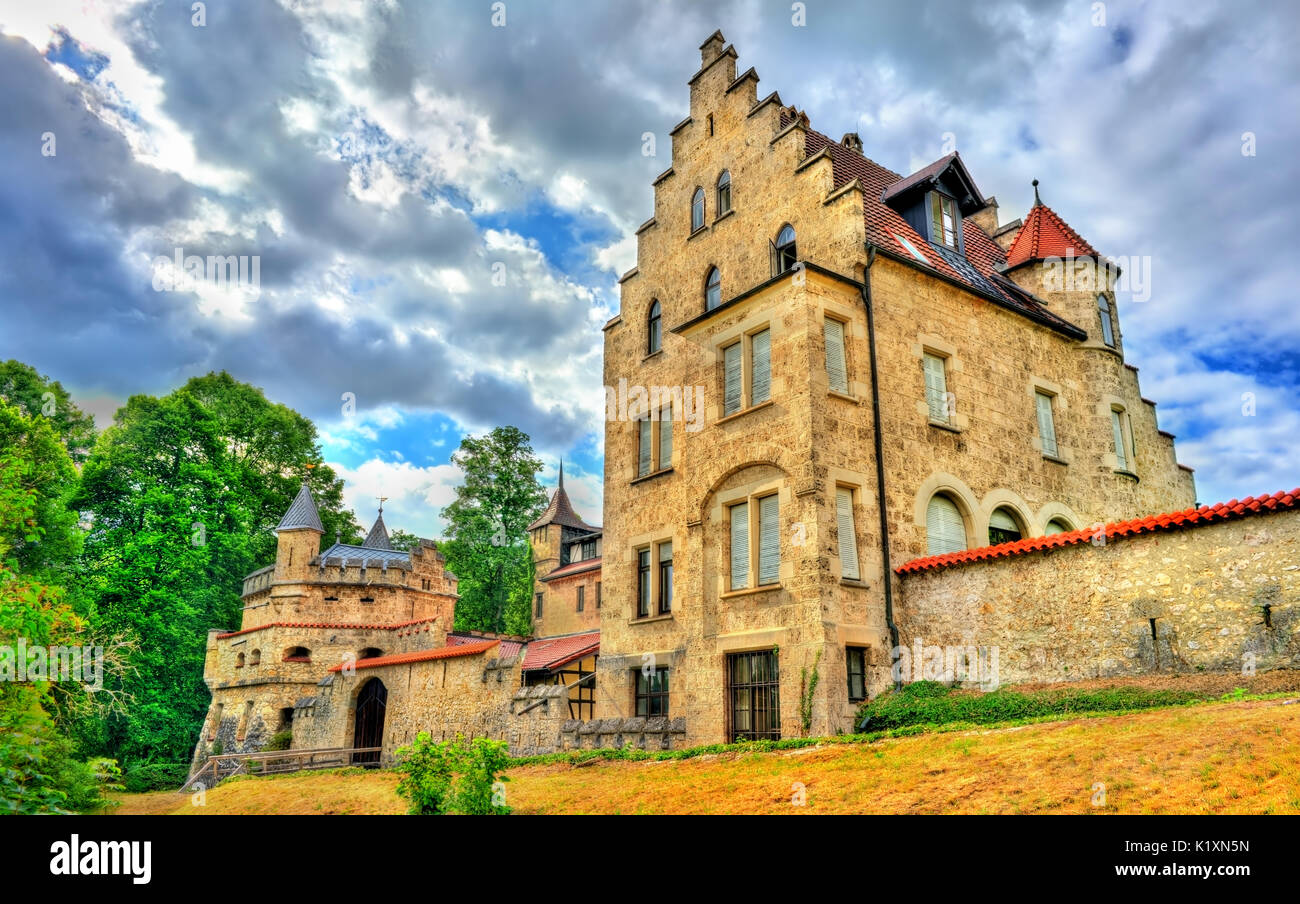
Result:
<svg viewBox="0 0 1300 904">
<path fill-rule="evenodd" d="M 997 646 L 1002 684 L 1300 667 L 1300 510 L 927 570 L 900 587 L 902 645 Z"/>
</svg>

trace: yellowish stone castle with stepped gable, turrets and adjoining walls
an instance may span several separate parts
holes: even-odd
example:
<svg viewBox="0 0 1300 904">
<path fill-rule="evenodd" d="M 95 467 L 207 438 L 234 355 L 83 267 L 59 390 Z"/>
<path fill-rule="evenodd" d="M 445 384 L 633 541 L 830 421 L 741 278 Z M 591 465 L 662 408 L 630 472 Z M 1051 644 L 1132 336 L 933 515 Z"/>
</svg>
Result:
<svg viewBox="0 0 1300 904">
<path fill-rule="evenodd" d="M 452 631 L 455 579 L 432 542 L 387 549 L 382 514 L 317 554 L 304 488 L 244 624 L 209 636 L 196 761 L 282 730 L 385 757 L 424 730 L 826 735 L 989 665 L 1300 662 L 1300 490 L 1196 507 L 1124 359 L 1121 273 L 1037 186 L 1004 224 L 958 153 L 890 172 L 759 98 L 720 33 L 701 53 L 604 325 L 603 527 L 562 472 L 529 528 L 533 636 Z"/>
</svg>

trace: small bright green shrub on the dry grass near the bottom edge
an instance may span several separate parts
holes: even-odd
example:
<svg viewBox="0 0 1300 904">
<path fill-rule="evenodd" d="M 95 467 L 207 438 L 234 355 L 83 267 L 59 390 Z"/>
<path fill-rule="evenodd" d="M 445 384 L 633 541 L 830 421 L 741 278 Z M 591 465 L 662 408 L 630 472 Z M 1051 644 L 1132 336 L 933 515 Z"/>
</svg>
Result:
<svg viewBox="0 0 1300 904">
<path fill-rule="evenodd" d="M 488 738 L 434 741 L 420 732 L 415 744 L 398 751 L 398 793 L 416 816 L 504 816 L 506 749 L 504 741 Z"/>
</svg>

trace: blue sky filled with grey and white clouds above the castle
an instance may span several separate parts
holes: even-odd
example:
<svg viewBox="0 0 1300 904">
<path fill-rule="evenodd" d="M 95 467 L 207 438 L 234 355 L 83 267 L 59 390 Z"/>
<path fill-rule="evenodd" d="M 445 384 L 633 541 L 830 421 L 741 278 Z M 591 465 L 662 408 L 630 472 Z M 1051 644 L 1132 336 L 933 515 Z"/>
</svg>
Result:
<svg viewBox="0 0 1300 904">
<path fill-rule="evenodd" d="M 229 371 L 312 418 L 363 525 L 382 494 L 430 537 L 460 438 L 515 424 L 598 522 L 601 326 L 720 29 L 819 131 L 900 173 L 956 147 L 1004 221 L 1037 178 L 1144 261 L 1126 356 L 1199 499 L 1291 489 L 1297 26 L 1235 0 L 0 0 L 0 359 L 100 427 Z M 247 278 L 187 284 L 188 255 Z"/>
</svg>

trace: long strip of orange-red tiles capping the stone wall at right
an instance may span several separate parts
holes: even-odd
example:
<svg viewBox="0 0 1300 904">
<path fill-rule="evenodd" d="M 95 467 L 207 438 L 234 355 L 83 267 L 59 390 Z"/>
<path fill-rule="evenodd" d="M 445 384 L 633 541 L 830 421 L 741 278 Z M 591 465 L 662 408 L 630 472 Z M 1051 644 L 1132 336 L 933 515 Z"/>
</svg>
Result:
<svg viewBox="0 0 1300 904">
<path fill-rule="evenodd" d="M 1197 527 L 1214 522 L 1226 522 L 1247 515 L 1262 514 L 1266 511 L 1284 511 L 1287 509 L 1300 509 L 1300 486 L 1291 492 L 1279 492 L 1273 496 L 1248 496 L 1244 499 L 1219 502 L 1213 506 L 1200 509 L 1187 509 L 1184 511 L 1171 511 L 1165 515 L 1149 515 L 1135 518 L 1127 522 L 1106 524 L 1102 528 L 1106 542 L 1139 533 L 1157 533 L 1161 531 L 1176 531 L 1184 527 Z M 1024 553 L 1045 552 L 1061 546 L 1075 546 L 1089 542 L 1096 531 L 1084 528 L 1070 531 L 1069 533 L 1053 533 L 1043 537 L 1028 537 L 1014 542 L 1004 542 L 997 546 L 983 546 L 980 549 L 963 549 L 959 553 L 945 553 L 942 555 L 927 555 L 913 559 L 894 568 L 896 574 L 907 575 L 930 568 L 944 568 L 953 565 L 968 565 L 988 559 L 1022 555 Z"/>
</svg>

